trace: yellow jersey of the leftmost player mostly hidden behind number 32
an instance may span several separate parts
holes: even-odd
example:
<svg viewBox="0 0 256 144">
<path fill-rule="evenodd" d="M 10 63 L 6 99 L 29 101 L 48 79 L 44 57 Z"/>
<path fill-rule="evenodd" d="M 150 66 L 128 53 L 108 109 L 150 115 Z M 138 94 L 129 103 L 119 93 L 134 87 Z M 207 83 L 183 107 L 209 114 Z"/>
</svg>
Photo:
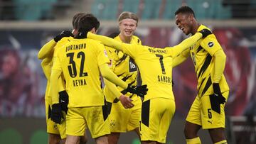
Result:
<svg viewBox="0 0 256 144">
<path fill-rule="evenodd" d="M 55 45 L 54 53 L 55 53 L 56 50 L 58 50 L 58 48 L 65 45 L 65 43 L 70 42 L 70 40 L 73 40 L 73 37 L 64 37 L 61 40 L 59 40 L 58 43 Z M 53 55 L 52 54 L 48 55 L 48 57 L 46 57 L 48 59 L 47 64 L 42 65 L 43 73 L 46 75 L 46 79 L 47 79 L 45 99 L 48 99 L 50 97 L 49 87 L 50 87 L 50 73 L 51 73 L 51 68 L 53 66 Z M 63 81 L 63 79 L 62 79 L 62 81 Z M 59 86 L 60 87 L 58 87 L 58 91 L 63 91 L 64 90 L 64 83 L 61 82 L 59 84 Z M 53 89 L 57 89 L 57 88 L 53 87 Z"/>
</svg>

